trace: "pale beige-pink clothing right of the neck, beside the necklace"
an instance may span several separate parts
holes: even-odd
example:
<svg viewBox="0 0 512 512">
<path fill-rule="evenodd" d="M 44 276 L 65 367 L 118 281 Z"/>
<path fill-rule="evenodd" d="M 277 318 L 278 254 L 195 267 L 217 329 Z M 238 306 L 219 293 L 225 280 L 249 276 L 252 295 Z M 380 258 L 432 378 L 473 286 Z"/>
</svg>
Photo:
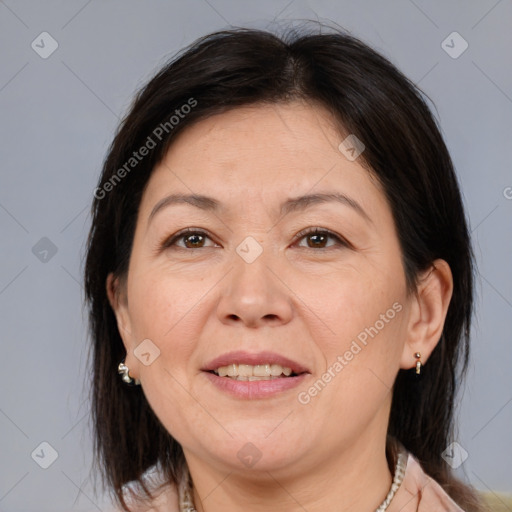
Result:
<svg viewBox="0 0 512 512">
<path fill-rule="evenodd" d="M 404 479 L 389 512 L 464 512 L 446 491 L 408 454 Z"/>
</svg>

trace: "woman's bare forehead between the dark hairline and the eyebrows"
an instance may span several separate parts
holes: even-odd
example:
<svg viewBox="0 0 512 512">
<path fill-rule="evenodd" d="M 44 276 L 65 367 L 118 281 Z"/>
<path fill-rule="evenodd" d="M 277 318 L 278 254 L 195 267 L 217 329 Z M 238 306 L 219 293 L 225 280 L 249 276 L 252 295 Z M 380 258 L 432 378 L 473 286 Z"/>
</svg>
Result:
<svg viewBox="0 0 512 512">
<path fill-rule="evenodd" d="M 332 190 L 371 210 L 383 201 L 382 191 L 368 170 L 338 149 L 345 136 L 324 107 L 299 101 L 200 120 L 173 141 L 153 171 L 143 209 L 174 191 L 247 208 Z"/>
</svg>

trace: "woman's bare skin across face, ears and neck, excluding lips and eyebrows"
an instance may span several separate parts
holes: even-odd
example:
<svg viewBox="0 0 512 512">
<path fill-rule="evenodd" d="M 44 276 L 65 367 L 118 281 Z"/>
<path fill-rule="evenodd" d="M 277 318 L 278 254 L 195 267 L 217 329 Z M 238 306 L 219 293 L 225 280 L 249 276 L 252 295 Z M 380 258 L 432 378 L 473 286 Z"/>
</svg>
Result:
<svg viewBox="0 0 512 512">
<path fill-rule="evenodd" d="M 416 352 L 428 361 L 452 275 L 436 260 L 417 293 L 407 293 L 390 207 L 360 159 L 338 150 L 344 138 L 323 107 L 298 101 L 238 108 L 187 128 L 143 194 L 126 280 L 107 281 L 130 375 L 182 445 L 198 511 L 372 510 L 388 493 L 391 388 Z M 223 207 L 169 206 L 148 223 L 154 206 L 178 192 Z M 319 192 L 349 196 L 369 220 L 335 202 L 279 215 L 286 199 Z M 210 237 L 160 247 L 187 227 Z M 310 227 L 350 245 L 294 238 Z M 247 236 L 263 250 L 252 263 L 236 252 Z M 298 394 L 395 303 L 401 311 L 300 403 Z M 134 355 L 144 339 L 160 350 L 147 366 Z M 238 349 L 278 352 L 311 374 L 273 397 L 229 396 L 200 369 Z M 261 454 L 252 467 L 237 457 L 248 442 Z"/>
</svg>

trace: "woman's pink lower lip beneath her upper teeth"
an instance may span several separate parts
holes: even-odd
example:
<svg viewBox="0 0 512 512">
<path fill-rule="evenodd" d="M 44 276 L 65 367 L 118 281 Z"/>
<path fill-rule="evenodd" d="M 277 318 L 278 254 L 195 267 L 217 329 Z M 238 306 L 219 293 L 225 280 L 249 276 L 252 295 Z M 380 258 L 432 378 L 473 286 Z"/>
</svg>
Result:
<svg viewBox="0 0 512 512">
<path fill-rule="evenodd" d="M 295 377 L 282 377 L 271 380 L 235 380 L 229 377 L 219 377 L 214 373 L 203 372 L 206 378 L 218 389 L 237 398 L 248 400 L 257 398 L 268 398 L 283 391 L 298 386 L 308 375 L 302 373 Z"/>
</svg>

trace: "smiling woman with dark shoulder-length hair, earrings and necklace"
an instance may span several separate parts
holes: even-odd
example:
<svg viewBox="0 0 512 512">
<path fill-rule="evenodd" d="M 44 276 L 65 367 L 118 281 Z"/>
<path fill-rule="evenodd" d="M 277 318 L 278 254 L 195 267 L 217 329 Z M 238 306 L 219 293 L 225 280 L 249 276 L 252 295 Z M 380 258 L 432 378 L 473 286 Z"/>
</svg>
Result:
<svg viewBox="0 0 512 512">
<path fill-rule="evenodd" d="M 118 505 L 483 510 L 447 463 L 473 259 L 420 92 L 332 29 L 214 33 L 138 93 L 97 190 L 190 98 L 93 204 L 96 455 Z"/>
</svg>

